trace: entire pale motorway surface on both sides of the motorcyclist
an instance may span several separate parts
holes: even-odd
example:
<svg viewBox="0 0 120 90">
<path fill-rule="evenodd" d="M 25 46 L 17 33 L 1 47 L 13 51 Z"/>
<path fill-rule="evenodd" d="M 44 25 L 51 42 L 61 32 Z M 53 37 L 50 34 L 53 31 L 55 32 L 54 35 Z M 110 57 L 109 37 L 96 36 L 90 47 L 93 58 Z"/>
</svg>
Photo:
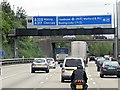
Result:
<svg viewBox="0 0 120 90">
<path fill-rule="evenodd" d="M 0 79 L 2 88 L 32 88 L 30 90 L 37 90 L 37 88 L 61 88 L 62 90 L 62 88 L 68 88 L 67 90 L 70 90 L 70 81 L 64 83 L 60 81 L 61 69 L 59 65 L 56 69 L 50 69 L 50 73 L 31 73 L 30 67 L 31 64 L 3 66 L 2 78 Z M 86 72 L 89 89 L 118 88 L 118 78 L 116 76 L 100 78 L 93 61 L 88 63 Z"/>
</svg>

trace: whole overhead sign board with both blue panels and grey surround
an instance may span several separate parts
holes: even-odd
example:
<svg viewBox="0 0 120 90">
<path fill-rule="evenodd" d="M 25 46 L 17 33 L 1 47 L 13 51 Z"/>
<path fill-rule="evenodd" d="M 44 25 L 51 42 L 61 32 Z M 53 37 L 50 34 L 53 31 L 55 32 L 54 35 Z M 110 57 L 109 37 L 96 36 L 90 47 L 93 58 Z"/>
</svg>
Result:
<svg viewBox="0 0 120 90">
<path fill-rule="evenodd" d="M 28 16 L 27 28 L 111 28 L 111 15 Z"/>
</svg>

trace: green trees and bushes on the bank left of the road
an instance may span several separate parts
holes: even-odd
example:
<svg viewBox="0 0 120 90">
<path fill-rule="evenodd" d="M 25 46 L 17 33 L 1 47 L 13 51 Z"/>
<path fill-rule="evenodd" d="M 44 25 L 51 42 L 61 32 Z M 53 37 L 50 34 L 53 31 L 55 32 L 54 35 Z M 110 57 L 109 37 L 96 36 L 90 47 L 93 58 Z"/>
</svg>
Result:
<svg viewBox="0 0 120 90">
<path fill-rule="evenodd" d="M 1 2 L 0 6 L 2 10 L 0 11 L 0 16 L 2 16 L 2 48 L 5 51 L 5 56 L 3 58 L 13 58 L 14 57 L 14 38 L 7 37 L 9 33 L 14 34 L 16 28 L 26 27 L 26 12 L 21 8 L 17 8 L 17 13 L 15 14 L 11 10 L 10 3 Z M 34 42 L 34 38 L 30 37 L 17 37 L 18 45 L 18 57 L 41 57 L 40 48 L 38 44 Z"/>
</svg>

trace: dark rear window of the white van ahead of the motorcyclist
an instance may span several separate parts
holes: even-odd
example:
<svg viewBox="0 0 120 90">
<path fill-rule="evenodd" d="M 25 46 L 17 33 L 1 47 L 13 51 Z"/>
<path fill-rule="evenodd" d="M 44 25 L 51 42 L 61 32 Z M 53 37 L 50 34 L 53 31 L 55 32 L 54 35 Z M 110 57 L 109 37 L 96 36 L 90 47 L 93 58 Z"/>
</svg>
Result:
<svg viewBox="0 0 120 90">
<path fill-rule="evenodd" d="M 82 64 L 81 59 L 66 59 L 65 67 L 77 67 Z"/>
</svg>

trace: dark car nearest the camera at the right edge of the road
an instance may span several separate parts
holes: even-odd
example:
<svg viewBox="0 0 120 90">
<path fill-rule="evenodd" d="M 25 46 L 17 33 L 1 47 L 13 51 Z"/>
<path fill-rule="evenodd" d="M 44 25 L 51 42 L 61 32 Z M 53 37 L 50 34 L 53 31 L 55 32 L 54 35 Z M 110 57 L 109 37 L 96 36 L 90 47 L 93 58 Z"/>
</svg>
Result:
<svg viewBox="0 0 120 90">
<path fill-rule="evenodd" d="M 104 75 L 117 75 L 120 78 L 120 65 L 117 61 L 105 61 L 100 70 L 100 77 Z"/>
</svg>

